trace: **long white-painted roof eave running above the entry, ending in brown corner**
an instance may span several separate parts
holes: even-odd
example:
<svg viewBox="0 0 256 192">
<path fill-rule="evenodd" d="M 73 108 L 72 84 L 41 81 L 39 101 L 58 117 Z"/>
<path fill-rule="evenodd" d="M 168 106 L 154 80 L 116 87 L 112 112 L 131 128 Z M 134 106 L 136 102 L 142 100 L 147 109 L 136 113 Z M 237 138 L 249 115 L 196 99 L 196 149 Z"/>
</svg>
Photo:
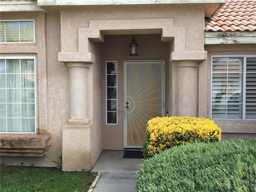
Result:
<svg viewBox="0 0 256 192">
<path fill-rule="evenodd" d="M 157 5 L 157 4 L 198 4 L 204 7 L 205 16 L 213 16 L 226 0 L 5 0 L 0 1 L 1 12 L 46 11 L 50 7 L 115 6 L 115 5 Z"/>
</svg>

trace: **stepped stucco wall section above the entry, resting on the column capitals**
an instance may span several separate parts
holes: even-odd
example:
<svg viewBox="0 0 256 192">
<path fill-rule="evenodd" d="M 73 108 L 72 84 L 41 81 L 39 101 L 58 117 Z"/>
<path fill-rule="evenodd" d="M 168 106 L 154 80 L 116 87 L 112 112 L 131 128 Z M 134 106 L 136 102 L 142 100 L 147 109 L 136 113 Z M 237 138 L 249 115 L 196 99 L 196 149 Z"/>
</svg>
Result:
<svg viewBox="0 0 256 192">
<path fill-rule="evenodd" d="M 173 18 L 174 26 L 186 26 L 185 50 L 201 50 L 204 45 L 204 8 L 195 5 L 125 6 L 61 10 L 62 52 L 78 52 L 78 28 L 88 28 L 90 20 Z M 130 23 L 132 26 L 132 22 Z M 119 34 L 126 34 L 120 31 Z M 138 31 L 136 31 L 138 33 Z M 147 34 L 154 34 L 148 29 Z"/>
</svg>

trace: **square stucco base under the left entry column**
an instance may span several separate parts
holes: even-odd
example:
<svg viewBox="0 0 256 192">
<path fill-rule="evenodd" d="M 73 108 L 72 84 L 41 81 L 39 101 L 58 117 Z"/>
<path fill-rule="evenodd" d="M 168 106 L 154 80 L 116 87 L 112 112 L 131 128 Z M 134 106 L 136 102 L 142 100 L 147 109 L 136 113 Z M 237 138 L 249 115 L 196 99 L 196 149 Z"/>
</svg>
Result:
<svg viewBox="0 0 256 192">
<path fill-rule="evenodd" d="M 64 125 L 62 130 L 62 170 L 89 171 L 91 125 Z"/>
</svg>

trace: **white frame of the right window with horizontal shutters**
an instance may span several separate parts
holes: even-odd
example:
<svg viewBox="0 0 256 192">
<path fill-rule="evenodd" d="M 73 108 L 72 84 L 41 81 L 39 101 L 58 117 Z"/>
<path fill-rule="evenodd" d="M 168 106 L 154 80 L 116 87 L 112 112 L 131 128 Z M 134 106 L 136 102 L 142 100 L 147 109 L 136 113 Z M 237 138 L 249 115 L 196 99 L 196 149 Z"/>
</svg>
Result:
<svg viewBox="0 0 256 192">
<path fill-rule="evenodd" d="M 246 58 L 254 58 L 256 55 L 212 55 L 211 56 L 211 78 L 210 78 L 210 119 L 213 120 L 234 120 L 234 121 L 255 121 L 255 119 L 246 119 Z M 212 118 L 212 64 L 213 58 L 242 58 L 242 118 Z"/>
</svg>

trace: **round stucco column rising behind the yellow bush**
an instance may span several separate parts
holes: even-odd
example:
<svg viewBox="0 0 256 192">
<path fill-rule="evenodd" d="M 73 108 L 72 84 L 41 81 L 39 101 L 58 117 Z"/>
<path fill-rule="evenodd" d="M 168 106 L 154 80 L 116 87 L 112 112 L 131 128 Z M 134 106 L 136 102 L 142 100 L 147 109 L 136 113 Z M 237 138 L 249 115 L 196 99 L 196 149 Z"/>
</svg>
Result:
<svg viewBox="0 0 256 192">
<path fill-rule="evenodd" d="M 176 61 L 176 115 L 198 116 L 198 61 Z"/>
</svg>

